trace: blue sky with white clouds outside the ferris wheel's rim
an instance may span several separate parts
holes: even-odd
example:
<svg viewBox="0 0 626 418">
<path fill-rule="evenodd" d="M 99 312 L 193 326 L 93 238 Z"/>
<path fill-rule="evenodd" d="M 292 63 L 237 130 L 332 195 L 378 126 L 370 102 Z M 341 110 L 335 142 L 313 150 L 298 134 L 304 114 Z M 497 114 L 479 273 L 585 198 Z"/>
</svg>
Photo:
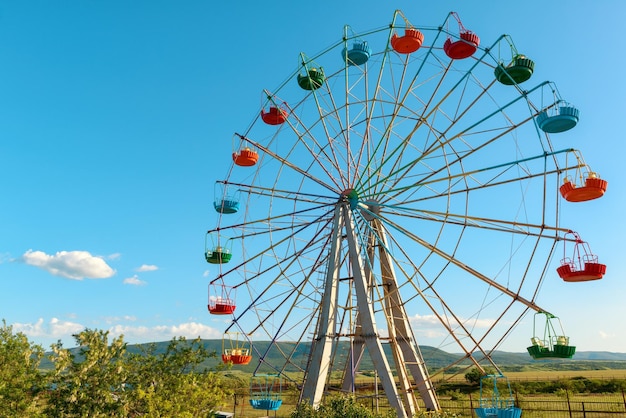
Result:
<svg viewBox="0 0 626 418">
<path fill-rule="evenodd" d="M 581 351 L 626 352 L 620 255 L 626 4 L 489 1 L 7 1 L 0 4 L 0 316 L 44 346 L 83 328 L 128 342 L 221 338 L 207 313 L 204 234 L 234 132 L 300 52 L 395 9 L 438 26 L 456 11 L 485 44 L 510 34 L 581 110 L 568 145 L 609 181 L 562 215 L 603 280 L 544 286 Z M 556 265 L 555 265 L 556 266 Z M 526 324 L 528 326 L 528 324 Z M 523 332 L 504 349 L 524 351 Z"/>
</svg>

